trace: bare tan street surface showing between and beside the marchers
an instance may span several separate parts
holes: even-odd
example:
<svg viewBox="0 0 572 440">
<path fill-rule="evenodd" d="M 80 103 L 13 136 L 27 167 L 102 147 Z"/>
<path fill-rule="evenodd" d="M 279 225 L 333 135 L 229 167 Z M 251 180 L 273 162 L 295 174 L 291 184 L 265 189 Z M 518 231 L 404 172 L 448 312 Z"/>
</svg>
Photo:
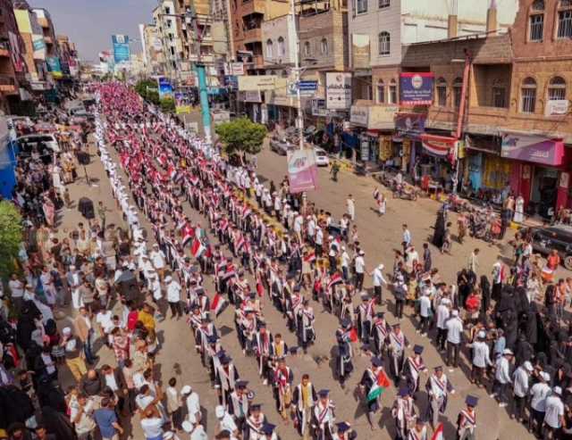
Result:
<svg viewBox="0 0 572 440">
<path fill-rule="evenodd" d="M 109 210 L 107 223 L 126 227 L 121 213 L 117 211 L 115 206 L 111 187 L 105 176 L 103 166 L 95 154 L 95 146 L 91 147 L 91 153 L 92 161 L 86 167 L 90 185 L 88 185 L 85 178 L 82 179 L 82 173 L 80 172 L 78 181 L 70 186 L 71 198 L 77 202 L 80 197 L 87 196 L 93 200 L 94 204 L 102 201 Z M 258 171 L 263 177 L 274 180 L 278 184 L 286 174 L 286 159 L 265 149 L 258 156 Z M 310 201 L 315 202 L 319 208 L 332 212 L 335 218 L 339 218 L 345 212 L 345 200 L 349 194 L 353 195 L 356 200 L 357 228 L 360 241 L 366 250 L 366 267 L 368 270 L 373 270 L 374 266 L 380 262 L 383 262 L 386 268 L 391 268 L 393 249 L 400 247 L 402 223 L 408 224 L 414 245 L 416 245 L 417 249 L 421 249 L 423 243 L 432 235 L 435 212 L 438 208 L 438 203 L 429 199 L 410 202 L 394 200 L 391 198 L 391 194 L 386 194 L 388 196 L 387 213 L 380 218 L 374 210 L 372 197 L 374 187 L 376 185 L 372 178 L 357 177 L 349 172 L 342 171 L 339 175 L 339 181 L 335 183 L 330 180 L 328 170 L 320 170 L 319 189 L 308 194 Z M 384 191 L 382 187 L 380 189 Z M 206 224 L 206 219 L 197 212 L 192 212 L 188 205 L 187 212 L 194 222 L 198 221 L 203 225 Z M 141 214 L 139 219 L 143 220 L 144 216 Z M 77 210 L 63 210 L 63 221 L 59 227 L 59 232 L 62 236 L 67 236 L 71 228 L 74 228 L 80 220 L 80 213 Z M 149 237 L 151 237 L 151 227 L 147 220 L 143 220 L 143 225 L 147 228 Z M 457 271 L 466 264 L 468 255 L 475 247 L 479 247 L 482 250 L 480 256 L 481 273 L 479 275 L 490 275 L 492 263 L 502 250 L 502 247 L 487 245 L 483 241 L 471 238 L 466 240 L 465 245 L 454 244 L 450 255 L 441 255 L 432 247 L 433 266 L 439 268 L 443 280 L 452 282 L 456 278 Z M 366 279 L 366 287 L 368 286 L 371 286 L 370 279 Z M 211 296 L 214 295 L 211 278 L 206 280 L 206 287 L 207 293 Z M 391 294 L 387 290 L 384 291 L 384 304 L 381 308 L 378 307 L 378 310 L 390 311 L 387 316 L 390 323 L 393 323 L 395 319 L 391 313 L 393 309 L 390 296 Z M 288 330 L 282 314 L 276 311 L 266 298 L 264 301 L 264 314 L 268 328 L 273 334 L 282 333 L 287 344 L 296 345 L 296 337 Z M 368 358 L 359 354 L 359 350 L 357 350 L 358 345 L 356 345 L 355 371 L 349 379 L 346 388 L 342 389 L 333 379 L 334 352 L 332 350 L 335 346 L 334 332 L 338 327 L 338 320 L 330 313 L 324 311 L 320 304 L 313 302 L 312 305 L 316 314 L 316 343 L 309 349 L 306 355 L 302 354 L 289 358 L 288 365 L 294 371 L 295 384 L 299 383 L 303 373 L 309 374 L 317 389 L 328 388 L 331 390 L 332 400 L 336 403 L 337 421 L 349 421 L 353 428 L 357 430 L 358 438 L 371 437 L 372 432 L 366 421 L 365 408 L 354 394 L 363 370 L 369 365 Z M 408 336 L 409 342 L 411 345 L 425 345 L 424 358 L 425 364 L 429 369 L 436 365 L 441 365 L 443 363 L 441 354 L 434 348 L 430 339 L 416 334 L 413 322 L 408 318 L 410 313 L 411 310 L 406 309 L 407 316 L 401 323 L 401 327 Z M 71 318 L 61 320 L 59 323 L 60 327 L 69 324 L 70 320 Z M 258 378 L 256 360 L 254 358 L 246 358 L 242 354 L 234 329 L 233 310 L 231 307 L 224 311 L 216 320 L 216 327 L 222 334 L 223 347 L 227 353 L 231 354 L 240 372 L 240 377 L 248 380 L 248 388 L 256 394 L 255 402 L 263 404 L 265 415 L 271 423 L 278 425 L 278 432 L 282 439 L 298 438 L 299 436 L 295 429 L 291 426 L 291 421 L 289 425 L 282 422 L 275 410 L 272 389 L 270 386 L 264 386 L 262 380 Z M 184 320 L 169 320 L 167 318 L 163 322 L 158 323 L 157 330 L 159 340 L 162 342 L 157 356 L 157 378 L 160 379 L 164 386 L 166 386 L 169 378 L 175 377 L 178 379 L 178 386 L 190 385 L 195 388 L 200 395 L 207 433 L 212 438 L 218 428 L 214 418 L 214 406 L 218 403 L 218 400 L 214 389 L 210 386 L 206 369 L 201 366 L 198 354 L 195 352 L 189 326 Z M 430 336 L 433 337 L 433 334 Z M 97 354 L 101 357 L 99 365 L 105 362 L 113 362 L 113 353 L 107 348 L 100 348 Z M 457 414 L 464 407 L 467 394 L 475 394 L 480 398 L 477 407 L 477 439 L 529 438 L 530 435 L 525 428 L 509 419 L 506 409 L 500 409 L 498 404 L 488 397 L 484 389 L 476 389 L 475 386 L 469 383 L 467 379 L 467 360 L 464 359 L 462 364 L 462 368 L 452 373 L 447 373 L 457 392 L 450 396 L 446 417 L 442 418 L 445 424 L 445 438 L 454 438 Z M 63 377 L 63 383 L 67 385 L 70 379 L 67 371 L 63 372 Z M 421 380 L 422 384 L 425 385 L 426 375 L 423 375 Z M 422 388 L 425 389 L 425 386 L 422 386 Z M 395 388 L 392 387 L 389 392 L 383 394 L 382 411 L 378 413 L 380 417 L 379 427 L 373 433 L 375 437 L 383 439 L 393 438 L 391 405 L 395 398 L 395 392 Z M 425 391 L 422 391 L 417 399 L 417 406 L 422 413 L 425 412 L 426 402 Z M 130 432 L 133 438 L 142 438 L 137 416 L 133 418 L 132 425 Z"/>
</svg>

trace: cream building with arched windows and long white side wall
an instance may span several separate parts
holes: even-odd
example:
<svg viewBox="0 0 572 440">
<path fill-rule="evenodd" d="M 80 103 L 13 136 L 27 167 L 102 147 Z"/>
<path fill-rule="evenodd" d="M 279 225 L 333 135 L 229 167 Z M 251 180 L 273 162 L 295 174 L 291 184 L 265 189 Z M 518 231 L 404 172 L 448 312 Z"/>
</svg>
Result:
<svg viewBox="0 0 572 440">
<path fill-rule="evenodd" d="M 497 14 L 497 29 L 489 30 L 506 32 L 514 21 L 518 0 L 487 2 L 496 5 Z M 475 35 L 485 30 L 483 2 L 352 0 L 349 64 L 354 72 L 354 97 L 378 104 L 397 104 L 392 101 L 396 96 L 392 89 L 399 88 L 403 45 Z M 374 93 L 378 84 L 385 86 L 385 95 Z"/>
</svg>

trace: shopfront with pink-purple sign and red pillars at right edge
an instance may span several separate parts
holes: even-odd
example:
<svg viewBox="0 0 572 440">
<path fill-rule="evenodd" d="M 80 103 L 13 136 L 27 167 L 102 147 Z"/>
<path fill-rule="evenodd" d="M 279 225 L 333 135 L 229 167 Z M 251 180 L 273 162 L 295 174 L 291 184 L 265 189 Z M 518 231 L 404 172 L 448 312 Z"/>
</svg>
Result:
<svg viewBox="0 0 572 440">
<path fill-rule="evenodd" d="M 501 156 L 512 161 L 510 187 L 527 212 L 550 217 L 568 206 L 570 157 L 561 139 L 504 133 Z"/>
</svg>

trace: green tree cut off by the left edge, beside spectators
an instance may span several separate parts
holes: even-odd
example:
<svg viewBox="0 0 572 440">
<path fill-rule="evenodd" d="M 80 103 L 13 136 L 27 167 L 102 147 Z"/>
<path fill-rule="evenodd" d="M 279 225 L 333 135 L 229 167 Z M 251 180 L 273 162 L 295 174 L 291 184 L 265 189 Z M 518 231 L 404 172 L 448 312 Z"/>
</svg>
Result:
<svg viewBox="0 0 572 440">
<path fill-rule="evenodd" d="M 0 276 L 7 277 L 15 269 L 22 241 L 20 212 L 13 203 L 0 202 Z"/>
</svg>

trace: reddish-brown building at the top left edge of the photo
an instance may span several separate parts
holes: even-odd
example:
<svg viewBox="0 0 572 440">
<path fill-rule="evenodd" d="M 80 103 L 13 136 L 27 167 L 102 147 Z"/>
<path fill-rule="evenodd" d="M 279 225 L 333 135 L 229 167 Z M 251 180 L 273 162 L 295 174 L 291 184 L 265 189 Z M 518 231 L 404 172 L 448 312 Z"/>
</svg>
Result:
<svg viewBox="0 0 572 440">
<path fill-rule="evenodd" d="M 11 0 L 0 0 L 0 110 L 10 113 L 20 102 L 26 82 L 26 47 L 21 39 Z"/>
</svg>

